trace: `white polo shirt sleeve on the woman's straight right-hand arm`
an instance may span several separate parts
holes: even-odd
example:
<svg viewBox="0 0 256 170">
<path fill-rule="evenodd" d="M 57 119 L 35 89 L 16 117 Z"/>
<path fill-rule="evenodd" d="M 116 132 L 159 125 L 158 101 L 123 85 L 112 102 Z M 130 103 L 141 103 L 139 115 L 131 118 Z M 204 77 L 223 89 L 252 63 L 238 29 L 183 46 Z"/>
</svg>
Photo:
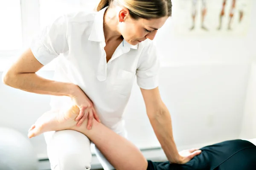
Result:
<svg viewBox="0 0 256 170">
<path fill-rule="evenodd" d="M 157 88 L 160 60 L 157 56 L 156 45 L 151 41 L 142 51 L 137 68 L 137 84 L 140 88 L 149 90 Z"/>
</svg>

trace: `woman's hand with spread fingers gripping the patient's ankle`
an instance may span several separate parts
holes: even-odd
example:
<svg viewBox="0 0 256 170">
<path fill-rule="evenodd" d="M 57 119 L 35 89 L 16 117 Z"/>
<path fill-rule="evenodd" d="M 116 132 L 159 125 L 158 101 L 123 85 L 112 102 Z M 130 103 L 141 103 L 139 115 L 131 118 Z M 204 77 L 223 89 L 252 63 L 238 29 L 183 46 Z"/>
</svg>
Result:
<svg viewBox="0 0 256 170">
<path fill-rule="evenodd" d="M 80 126 L 85 119 L 88 118 L 87 129 L 91 129 L 93 125 L 93 117 L 100 122 L 99 117 L 93 107 L 93 102 L 84 94 L 84 91 L 76 86 L 76 91 L 71 96 L 71 99 L 80 109 L 79 115 L 76 117 L 76 121 L 78 121 L 77 126 Z"/>
</svg>

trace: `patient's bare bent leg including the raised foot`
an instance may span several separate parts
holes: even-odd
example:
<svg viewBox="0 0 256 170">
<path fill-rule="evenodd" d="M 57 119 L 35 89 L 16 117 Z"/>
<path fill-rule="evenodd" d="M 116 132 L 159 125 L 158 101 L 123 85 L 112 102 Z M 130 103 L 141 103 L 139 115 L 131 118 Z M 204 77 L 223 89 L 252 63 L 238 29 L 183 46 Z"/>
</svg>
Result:
<svg viewBox="0 0 256 170">
<path fill-rule="evenodd" d="M 134 144 L 95 119 L 91 130 L 87 129 L 87 119 L 81 126 L 76 126 L 78 115 L 77 106 L 65 111 L 48 111 L 32 125 L 28 136 L 32 138 L 47 131 L 76 130 L 86 135 L 117 170 L 147 169 L 147 160 Z"/>
</svg>

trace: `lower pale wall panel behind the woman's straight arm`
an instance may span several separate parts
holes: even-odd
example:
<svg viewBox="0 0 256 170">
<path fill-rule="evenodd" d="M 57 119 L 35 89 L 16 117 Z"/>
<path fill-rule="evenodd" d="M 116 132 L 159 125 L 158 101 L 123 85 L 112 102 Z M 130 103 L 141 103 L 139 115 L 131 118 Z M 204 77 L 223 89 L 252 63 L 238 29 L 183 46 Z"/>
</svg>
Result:
<svg viewBox="0 0 256 170">
<path fill-rule="evenodd" d="M 161 68 L 160 93 L 172 115 L 179 147 L 238 138 L 248 68 L 214 64 Z M 157 146 L 140 90 L 133 90 L 125 112 L 129 135 L 140 147 Z"/>
</svg>

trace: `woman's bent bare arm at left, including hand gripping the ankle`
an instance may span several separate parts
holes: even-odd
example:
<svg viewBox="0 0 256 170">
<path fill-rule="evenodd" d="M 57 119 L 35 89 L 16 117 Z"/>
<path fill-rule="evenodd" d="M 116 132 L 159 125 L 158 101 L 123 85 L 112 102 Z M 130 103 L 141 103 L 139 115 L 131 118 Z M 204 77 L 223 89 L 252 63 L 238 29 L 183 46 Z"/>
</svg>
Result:
<svg viewBox="0 0 256 170">
<path fill-rule="evenodd" d="M 76 118 L 78 126 L 88 120 L 87 128 L 90 129 L 93 117 L 100 122 L 91 100 L 84 94 L 78 85 L 67 82 L 57 82 L 44 79 L 36 74 L 42 65 L 33 55 L 31 49 L 26 50 L 17 61 L 3 74 L 3 83 L 23 91 L 36 94 L 47 94 L 54 96 L 69 96 L 80 108 L 79 116 Z"/>
</svg>

